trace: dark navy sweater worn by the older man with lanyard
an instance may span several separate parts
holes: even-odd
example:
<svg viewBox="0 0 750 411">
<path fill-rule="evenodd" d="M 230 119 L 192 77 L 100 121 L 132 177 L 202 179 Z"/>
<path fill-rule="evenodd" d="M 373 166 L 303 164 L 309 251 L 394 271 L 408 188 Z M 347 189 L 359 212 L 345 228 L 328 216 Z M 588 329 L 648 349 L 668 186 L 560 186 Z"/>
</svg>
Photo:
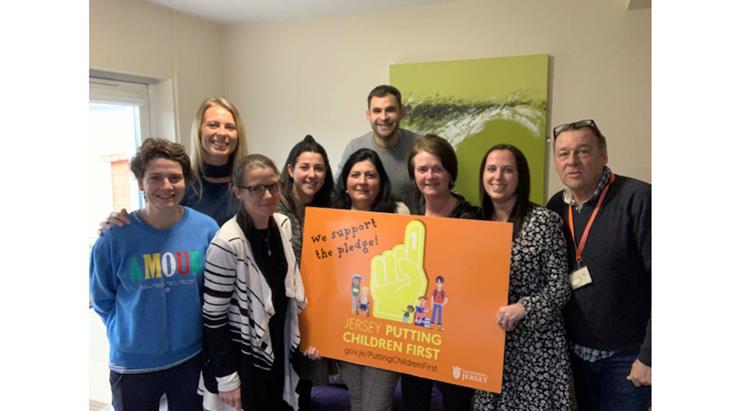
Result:
<svg viewBox="0 0 750 411">
<path fill-rule="evenodd" d="M 598 198 L 573 210 L 580 239 Z M 576 266 L 568 205 L 563 192 L 547 207 L 565 222 L 568 262 Z M 592 282 L 577 290 L 565 307 L 568 336 L 574 343 L 600 350 L 639 351 L 651 364 L 651 185 L 617 176 L 594 221 L 583 262 Z"/>
</svg>

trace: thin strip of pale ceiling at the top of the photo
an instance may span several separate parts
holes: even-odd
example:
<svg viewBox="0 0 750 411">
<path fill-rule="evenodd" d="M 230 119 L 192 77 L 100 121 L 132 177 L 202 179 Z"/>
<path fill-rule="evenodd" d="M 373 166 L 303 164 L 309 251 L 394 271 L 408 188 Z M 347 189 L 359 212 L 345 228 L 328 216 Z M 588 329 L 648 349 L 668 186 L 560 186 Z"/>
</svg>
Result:
<svg viewBox="0 0 750 411">
<path fill-rule="evenodd" d="M 460 0 L 147 0 L 219 24 L 350 14 Z"/>
</svg>

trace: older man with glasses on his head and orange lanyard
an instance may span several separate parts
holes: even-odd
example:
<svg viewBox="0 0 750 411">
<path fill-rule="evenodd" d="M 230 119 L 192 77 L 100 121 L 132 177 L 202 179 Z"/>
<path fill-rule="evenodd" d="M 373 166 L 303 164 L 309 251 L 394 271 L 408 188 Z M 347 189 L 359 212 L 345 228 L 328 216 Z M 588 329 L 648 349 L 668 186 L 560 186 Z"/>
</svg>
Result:
<svg viewBox="0 0 750 411">
<path fill-rule="evenodd" d="M 607 167 L 594 120 L 553 130 L 565 189 L 547 207 L 565 222 L 565 307 L 578 409 L 646 410 L 651 401 L 651 185 Z"/>
</svg>

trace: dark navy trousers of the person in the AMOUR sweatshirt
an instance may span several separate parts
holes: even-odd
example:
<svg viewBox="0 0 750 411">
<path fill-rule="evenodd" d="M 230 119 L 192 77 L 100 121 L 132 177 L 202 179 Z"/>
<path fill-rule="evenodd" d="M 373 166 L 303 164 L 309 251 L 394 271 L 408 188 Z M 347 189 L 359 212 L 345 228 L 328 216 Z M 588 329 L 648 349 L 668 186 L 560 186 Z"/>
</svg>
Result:
<svg viewBox="0 0 750 411">
<path fill-rule="evenodd" d="M 170 411 L 202 411 L 203 398 L 197 392 L 201 357 L 198 354 L 161 371 L 120 374 L 110 370 L 112 406 L 116 411 L 158 411 L 159 399 L 167 394 Z"/>
</svg>

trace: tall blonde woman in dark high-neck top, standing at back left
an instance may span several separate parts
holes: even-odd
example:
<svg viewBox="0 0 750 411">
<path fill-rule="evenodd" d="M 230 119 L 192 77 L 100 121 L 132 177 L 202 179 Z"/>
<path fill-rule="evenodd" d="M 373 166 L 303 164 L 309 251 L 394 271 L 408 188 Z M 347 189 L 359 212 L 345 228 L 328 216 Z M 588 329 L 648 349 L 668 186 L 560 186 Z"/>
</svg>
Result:
<svg viewBox="0 0 750 411">
<path fill-rule="evenodd" d="M 239 202 L 230 188 L 232 167 L 247 153 L 245 124 L 237 107 L 229 100 L 211 97 L 198 107 L 190 136 L 195 178 L 185 190 L 182 205 L 207 214 L 222 225 L 239 210 Z M 123 209 L 112 212 L 100 226 L 108 230 L 111 225 L 127 224 L 130 219 Z"/>
</svg>

